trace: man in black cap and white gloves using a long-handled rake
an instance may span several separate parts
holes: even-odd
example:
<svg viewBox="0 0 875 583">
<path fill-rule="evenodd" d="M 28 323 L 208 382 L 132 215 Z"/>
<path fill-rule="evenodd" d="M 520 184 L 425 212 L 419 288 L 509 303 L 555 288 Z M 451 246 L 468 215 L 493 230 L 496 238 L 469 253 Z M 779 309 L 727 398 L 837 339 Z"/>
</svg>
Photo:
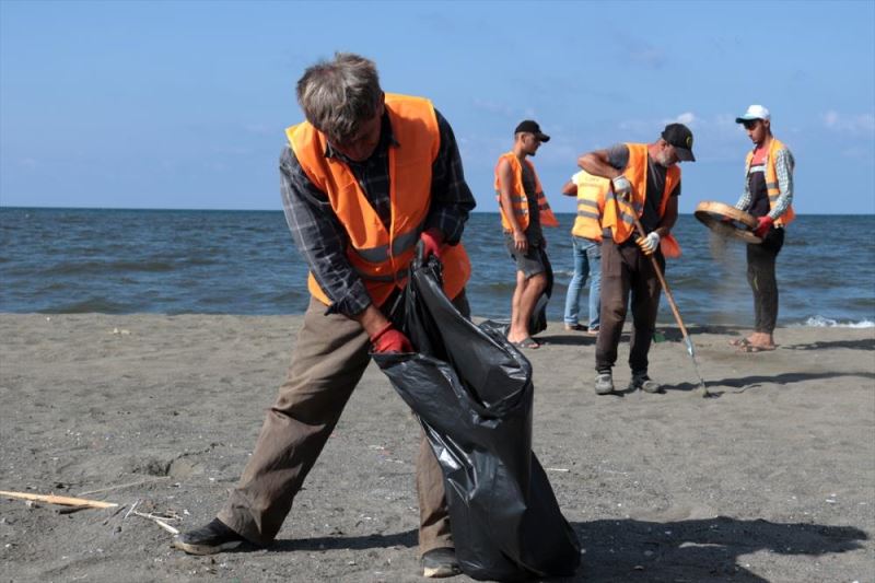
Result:
<svg viewBox="0 0 875 583">
<path fill-rule="evenodd" d="M 648 352 L 660 310 L 660 280 L 650 260 L 656 257 L 665 270 L 664 254 L 680 249 L 670 230 L 677 220 L 680 195 L 678 162 L 695 162 L 692 132 L 682 124 L 669 124 L 653 143 L 618 143 L 578 159 L 580 167 L 611 179 L 602 218 L 602 327 L 596 340 L 595 392 L 614 392 L 611 369 L 617 360 L 629 294 L 632 296 L 632 334 L 629 341 L 630 389 L 658 393 L 660 384 L 648 376 Z M 637 217 L 645 236 L 635 232 Z"/>
</svg>

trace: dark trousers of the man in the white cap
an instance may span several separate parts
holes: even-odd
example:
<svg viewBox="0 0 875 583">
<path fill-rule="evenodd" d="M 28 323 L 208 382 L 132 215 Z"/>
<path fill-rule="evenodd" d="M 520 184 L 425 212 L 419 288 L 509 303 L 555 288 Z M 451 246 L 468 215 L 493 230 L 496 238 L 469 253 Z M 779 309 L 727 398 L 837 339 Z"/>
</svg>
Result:
<svg viewBox="0 0 875 583">
<path fill-rule="evenodd" d="M 784 230 L 772 228 L 759 245 L 747 246 L 747 282 L 754 291 L 754 330 L 772 334 L 778 322 L 774 263 L 784 245 Z"/>
</svg>

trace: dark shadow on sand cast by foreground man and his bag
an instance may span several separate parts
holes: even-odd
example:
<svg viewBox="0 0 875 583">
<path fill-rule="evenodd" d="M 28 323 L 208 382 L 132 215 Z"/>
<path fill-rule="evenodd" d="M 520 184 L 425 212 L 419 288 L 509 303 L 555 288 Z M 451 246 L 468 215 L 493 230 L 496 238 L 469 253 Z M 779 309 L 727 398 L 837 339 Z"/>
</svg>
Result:
<svg viewBox="0 0 875 583">
<path fill-rule="evenodd" d="M 725 516 L 705 520 L 646 522 L 592 521 L 572 524 L 584 549 L 573 578 L 550 581 L 766 582 L 744 567 L 744 555 L 819 557 L 862 548 L 868 535 L 853 526 L 772 523 Z M 413 529 L 387 535 L 326 536 L 277 540 L 272 552 L 417 546 Z M 803 579 L 816 575 L 800 574 Z"/>
</svg>

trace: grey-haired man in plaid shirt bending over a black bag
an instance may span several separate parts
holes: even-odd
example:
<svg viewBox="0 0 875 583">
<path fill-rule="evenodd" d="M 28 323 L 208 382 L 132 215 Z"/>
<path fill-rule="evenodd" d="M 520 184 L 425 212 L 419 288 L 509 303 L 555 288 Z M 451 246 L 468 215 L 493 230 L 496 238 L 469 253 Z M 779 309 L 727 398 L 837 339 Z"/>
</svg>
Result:
<svg viewBox="0 0 875 583">
<path fill-rule="evenodd" d="M 475 206 L 450 125 L 422 97 L 384 94 L 374 63 L 352 54 L 310 67 L 298 82 L 306 121 L 285 130 L 285 220 L 310 267 L 310 307 L 285 383 L 237 487 L 217 518 L 175 546 L 194 555 L 264 546 L 373 352 L 410 352 L 393 308 L 417 256 L 443 263 L 444 291 L 463 313 L 470 264 L 459 237 Z M 397 319 L 396 319 L 397 320 Z M 458 573 L 443 475 L 424 435 L 417 459 L 424 576 Z"/>
</svg>

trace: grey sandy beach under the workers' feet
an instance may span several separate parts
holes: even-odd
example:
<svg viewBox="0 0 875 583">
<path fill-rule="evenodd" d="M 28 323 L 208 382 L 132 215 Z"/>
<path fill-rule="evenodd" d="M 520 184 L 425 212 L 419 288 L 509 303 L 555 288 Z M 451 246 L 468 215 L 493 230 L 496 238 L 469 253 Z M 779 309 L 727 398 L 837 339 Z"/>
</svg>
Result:
<svg viewBox="0 0 875 583">
<path fill-rule="evenodd" d="M 0 490 L 125 505 L 0 498 L 0 579 L 422 581 L 417 421 L 373 365 L 272 547 L 189 557 L 130 512 L 213 517 L 301 322 L 0 315 Z M 526 352 L 534 450 L 584 549 L 573 580 L 875 581 L 875 329 L 781 328 L 777 351 L 743 354 L 744 330 L 693 328 L 708 399 L 662 331 L 658 395 L 596 396 L 594 339 L 561 324 Z"/>
</svg>

